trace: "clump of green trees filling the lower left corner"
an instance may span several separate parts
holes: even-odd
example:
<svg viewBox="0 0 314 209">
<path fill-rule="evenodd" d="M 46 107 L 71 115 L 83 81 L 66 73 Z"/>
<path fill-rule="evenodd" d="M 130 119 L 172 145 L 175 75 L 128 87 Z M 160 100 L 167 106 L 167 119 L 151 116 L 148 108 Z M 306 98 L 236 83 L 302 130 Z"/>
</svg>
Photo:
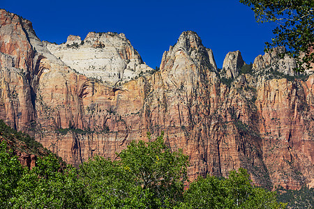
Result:
<svg viewBox="0 0 314 209">
<path fill-rule="evenodd" d="M 55 155 L 39 158 L 29 171 L 6 143 L 0 144 L 0 208 L 84 208 L 84 187 L 76 169 L 60 171 Z M 82 204 L 83 203 L 83 204 Z"/>
</svg>

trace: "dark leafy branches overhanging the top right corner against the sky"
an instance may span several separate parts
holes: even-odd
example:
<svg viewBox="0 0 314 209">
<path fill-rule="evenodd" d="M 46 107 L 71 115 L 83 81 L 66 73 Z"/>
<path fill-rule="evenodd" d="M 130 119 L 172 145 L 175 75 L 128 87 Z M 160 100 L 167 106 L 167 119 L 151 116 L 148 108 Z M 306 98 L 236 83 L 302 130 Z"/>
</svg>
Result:
<svg viewBox="0 0 314 209">
<path fill-rule="evenodd" d="M 285 46 L 285 54 L 297 61 L 295 70 L 304 71 L 314 62 L 314 1 L 312 0 L 240 0 L 250 6 L 257 22 L 276 22 L 275 38 L 266 42 L 265 52 L 271 47 Z M 305 56 L 304 56 L 305 55 Z M 283 54 L 282 54 L 283 56 Z"/>
</svg>

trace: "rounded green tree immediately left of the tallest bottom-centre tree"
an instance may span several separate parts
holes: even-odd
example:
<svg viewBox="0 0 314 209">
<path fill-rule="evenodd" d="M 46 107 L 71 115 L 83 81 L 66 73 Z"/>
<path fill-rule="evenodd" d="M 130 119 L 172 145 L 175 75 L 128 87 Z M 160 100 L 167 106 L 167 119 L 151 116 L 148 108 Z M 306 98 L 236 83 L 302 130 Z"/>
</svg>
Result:
<svg viewBox="0 0 314 209">
<path fill-rule="evenodd" d="M 151 194 L 135 185 L 132 174 L 119 161 L 96 156 L 80 167 L 89 208 L 146 208 Z"/>
</svg>

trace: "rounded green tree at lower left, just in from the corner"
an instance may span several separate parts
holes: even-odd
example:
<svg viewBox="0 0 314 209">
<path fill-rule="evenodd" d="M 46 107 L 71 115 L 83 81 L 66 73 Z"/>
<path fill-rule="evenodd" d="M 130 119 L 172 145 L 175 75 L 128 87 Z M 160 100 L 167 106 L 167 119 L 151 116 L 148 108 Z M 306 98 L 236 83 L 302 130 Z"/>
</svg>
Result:
<svg viewBox="0 0 314 209">
<path fill-rule="evenodd" d="M 86 208 L 84 189 L 77 169 L 69 165 L 61 171 L 59 159 L 49 155 L 31 171 L 24 169 L 10 202 L 12 208 Z"/>
</svg>

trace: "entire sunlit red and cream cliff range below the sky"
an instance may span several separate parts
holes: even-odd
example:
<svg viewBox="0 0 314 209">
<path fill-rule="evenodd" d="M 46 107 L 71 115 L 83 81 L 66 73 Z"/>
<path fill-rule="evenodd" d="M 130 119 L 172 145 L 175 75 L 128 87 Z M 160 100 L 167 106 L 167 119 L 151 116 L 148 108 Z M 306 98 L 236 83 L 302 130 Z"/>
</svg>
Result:
<svg viewBox="0 0 314 209">
<path fill-rule="evenodd" d="M 0 118 L 69 164 L 114 159 L 131 140 L 147 140 L 147 131 L 165 131 L 166 144 L 189 155 L 191 179 L 244 167 L 256 185 L 313 185 L 314 75 L 291 79 L 290 61 L 265 54 L 243 74 L 241 53 L 230 52 L 226 82 L 211 49 L 186 31 L 160 70 L 144 73 L 151 68 L 123 34 L 69 36 L 55 45 L 5 10 L 0 24 Z M 282 68 L 267 70 L 276 63 Z M 128 66 L 136 73 L 130 80 Z"/>
</svg>

